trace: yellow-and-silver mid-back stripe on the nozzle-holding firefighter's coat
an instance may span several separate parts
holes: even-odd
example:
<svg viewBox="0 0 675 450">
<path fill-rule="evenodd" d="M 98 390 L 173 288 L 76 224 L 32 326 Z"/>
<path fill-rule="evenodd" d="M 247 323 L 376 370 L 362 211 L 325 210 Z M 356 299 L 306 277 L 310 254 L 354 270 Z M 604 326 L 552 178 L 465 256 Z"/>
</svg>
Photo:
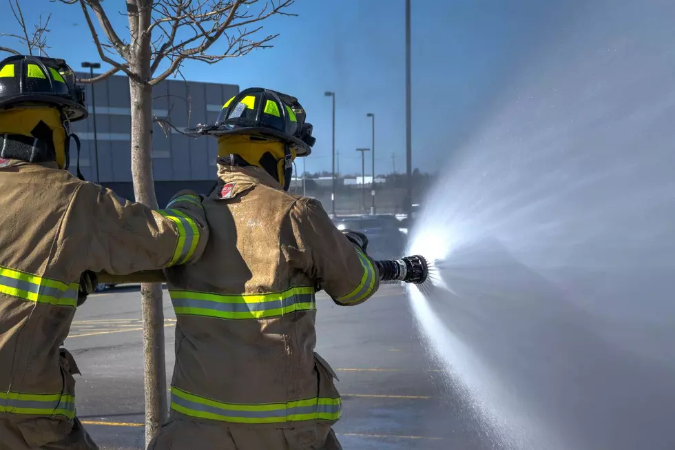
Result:
<svg viewBox="0 0 675 450">
<path fill-rule="evenodd" d="M 176 315 L 258 319 L 316 309 L 313 287 L 291 287 L 270 294 L 220 295 L 169 289 Z"/>
</svg>

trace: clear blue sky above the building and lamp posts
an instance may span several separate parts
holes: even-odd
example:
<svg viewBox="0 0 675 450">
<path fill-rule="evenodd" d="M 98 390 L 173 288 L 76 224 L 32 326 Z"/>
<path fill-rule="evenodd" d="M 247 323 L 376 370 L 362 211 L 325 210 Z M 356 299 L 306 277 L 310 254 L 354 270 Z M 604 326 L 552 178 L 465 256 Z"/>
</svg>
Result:
<svg viewBox="0 0 675 450">
<path fill-rule="evenodd" d="M 38 14 L 52 14 L 50 56 L 74 68 L 98 60 L 79 6 L 47 0 L 21 4 L 29 23 Z M 118 14 L 118 4 L 123 3 L 103 2 L 118 34 L 125 36 L 127 19 Z M 413 167 L 428 172 L 442 167 L 532 49 L 574 14 L 571 4 L 413 0 Z M 2 10 L 9 12 L 6 5 Z M 391 172 L 392 155 L 397 172 L 404 171 L 404 0 L 297 0 L 289 12 L 298 17 L 264 22 L 262 33 L 280 33 L 273 48 L 218 65 L 188 62 L 183 74 L 189 80 L 261 86 L 297 96 L 317 137 L 308 171 L 330 168 L 331 99 L 324 91 L 335 91 L 340 172 L 360 172 L 355 149 L 371 146 L 366 112 L 375 114 L 376 172 Z M 11 14 L 0 14 L 0 28 L 19 31 Z M 0 37 L 0 45 L 19 46 L 6 37 Z"/>
</svg>

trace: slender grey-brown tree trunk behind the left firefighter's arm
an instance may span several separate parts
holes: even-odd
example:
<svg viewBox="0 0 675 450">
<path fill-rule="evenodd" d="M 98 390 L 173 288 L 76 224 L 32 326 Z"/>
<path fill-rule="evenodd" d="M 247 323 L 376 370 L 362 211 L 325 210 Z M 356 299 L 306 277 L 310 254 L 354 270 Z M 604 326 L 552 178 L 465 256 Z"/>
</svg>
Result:
<svg viewBox="0 0 675 450">
<path fill-rule="evenodd" d="M 132 105 L 132 178 L 136 201 L 157 208 L 152 178 L 152 86 L 129 79 Z M 141 285 L 143 309 L 143 380 L 145 382 L 145 445 L 167 418 L 162 286 Z"/>
</svg>

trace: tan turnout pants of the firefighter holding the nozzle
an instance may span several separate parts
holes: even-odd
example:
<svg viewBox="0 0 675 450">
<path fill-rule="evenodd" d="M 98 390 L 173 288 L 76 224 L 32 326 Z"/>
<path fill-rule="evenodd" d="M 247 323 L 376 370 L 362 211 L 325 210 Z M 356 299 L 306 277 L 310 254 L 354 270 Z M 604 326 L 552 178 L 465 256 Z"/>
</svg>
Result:
<svg viewBox="0 0 675 450">
<path fill-rule="evenodd" d="M 342 450 L 329 424 L 311 422 L 289 429 L 174 418 L 147 450 Z"/>
</svg>

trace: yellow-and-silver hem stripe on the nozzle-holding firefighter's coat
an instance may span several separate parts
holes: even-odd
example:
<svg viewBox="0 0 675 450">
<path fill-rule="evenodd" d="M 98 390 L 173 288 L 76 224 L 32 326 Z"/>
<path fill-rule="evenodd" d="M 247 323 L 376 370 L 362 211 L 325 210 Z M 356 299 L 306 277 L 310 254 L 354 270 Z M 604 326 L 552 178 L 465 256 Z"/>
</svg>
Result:
<svg viewBox="0 0 675 450">
<path fill-rule="evenodd" d="M 171 388 L 171 408 L 194 418 L 236 423 L 278 423 L 304 420 L 339 420 L 340 398 L 315 397 L 284 403 L 241 405 L 216 402 L 209 398 Z"/>
</svg>

